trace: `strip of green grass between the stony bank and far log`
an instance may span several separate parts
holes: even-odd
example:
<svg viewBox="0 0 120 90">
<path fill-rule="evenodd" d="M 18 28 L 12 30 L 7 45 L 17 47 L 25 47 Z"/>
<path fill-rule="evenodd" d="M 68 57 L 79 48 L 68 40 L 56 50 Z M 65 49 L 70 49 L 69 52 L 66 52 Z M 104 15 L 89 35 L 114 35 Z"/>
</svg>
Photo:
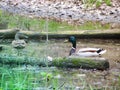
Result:
<svg viewBox="0 0 120 90">
<path fill-rule="evenodd" d="M 33 18 L 27 16 L 13 15 L 7 12 L 0 11 L 1 22 L 7 22 L 8 28 L 20 28 L 23 30 L 45 31 L 48 27 L 49 32 L 57 31 L 74 31 L 74 30 L 104 30 L 109 28 L 109 24 L 104 26 L 100 22 L 87 21 L 82 25 L 69 25 L 67 22 L 58 22 L 56 20 Z"/>
</svg>

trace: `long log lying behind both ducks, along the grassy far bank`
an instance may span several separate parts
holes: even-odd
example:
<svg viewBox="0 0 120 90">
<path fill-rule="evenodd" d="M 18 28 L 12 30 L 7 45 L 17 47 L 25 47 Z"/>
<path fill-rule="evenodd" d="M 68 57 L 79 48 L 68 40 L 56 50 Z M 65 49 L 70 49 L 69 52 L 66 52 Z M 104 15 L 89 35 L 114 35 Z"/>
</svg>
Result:
<svg viewBox="0 0 120 90">
<path fill-rule="evenodd" d="M 0 38 L 14 39 L 17 29 L 0 30 Z M 45 32 L 20 30 L 20 33 L 27 35 L 29 39 L 46 39 Z M 71 35 L 78 39 L 120 39 L 120 33 L 93 33 L 93 34 L 55 34 L 49 33 L 49 39 L 65 39 Z"/>
</svg>

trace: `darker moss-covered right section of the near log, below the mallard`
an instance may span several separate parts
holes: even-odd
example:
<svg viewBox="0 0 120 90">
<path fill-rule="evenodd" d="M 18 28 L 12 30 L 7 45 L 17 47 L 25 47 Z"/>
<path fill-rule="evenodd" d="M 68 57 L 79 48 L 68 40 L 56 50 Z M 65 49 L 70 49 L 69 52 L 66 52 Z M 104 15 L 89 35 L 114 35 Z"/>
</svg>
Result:
<svg viewBox="0 0 120 90">
<path fill-rule="evenodd" d="M 85 69 L 106 69 L 109 68 L 107 61 L 95 61 L 91 58 L 56 58 L 52 62 L 58 67 L 85 68 Z M 105 66 L 108 65 L 108 66 Z"/>
</svg>

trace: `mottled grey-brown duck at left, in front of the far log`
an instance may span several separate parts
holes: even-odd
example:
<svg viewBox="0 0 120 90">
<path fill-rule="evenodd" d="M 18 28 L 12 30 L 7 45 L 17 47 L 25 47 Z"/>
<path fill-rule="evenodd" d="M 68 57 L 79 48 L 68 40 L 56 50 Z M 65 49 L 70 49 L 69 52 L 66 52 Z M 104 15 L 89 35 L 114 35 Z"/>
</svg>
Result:
<svg viewBox="0 0 120 90">
<path fill-rule="evenodd" d="M 26 35 L 19 31 L 15 34 L 15 40 L 12 41 L 12 46 L 16 49 L 23 49 L 26 46 L 25 40 L 20 40 L 20 37 L 28 38 Z"/>
</svg>

